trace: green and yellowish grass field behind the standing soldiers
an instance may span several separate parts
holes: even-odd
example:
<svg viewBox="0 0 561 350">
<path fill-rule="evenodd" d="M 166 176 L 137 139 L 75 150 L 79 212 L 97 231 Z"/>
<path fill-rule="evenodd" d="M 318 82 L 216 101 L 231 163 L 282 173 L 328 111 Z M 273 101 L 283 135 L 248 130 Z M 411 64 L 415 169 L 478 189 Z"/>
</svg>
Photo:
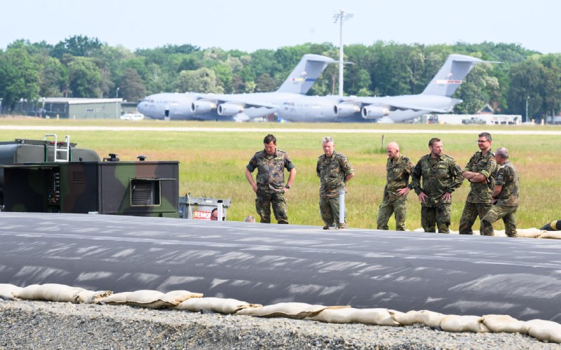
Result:
<svg viewBox="0 0 561 350">
<path fill-rule="evenodd" d="M 46 130 L 2 130 L 1 127 L 39 126 Z M 79 131 L 65 127 L 147 127 L 142 131 Z M 50 129 L 52 127 L 52 130 Z M 222 128 L 219 132 L 154 131 L 166 128 Z M 343 130 L 344 129 L 344 130 Z M 410 133 L 410 130 L 418 132 Z M 350 131 L 349 131 L 350 130 Z M 356 130 L 356 132 L 353 132 Z M 365 132 L 381 130 L 379 132 Z M 461 133 L 448 133 L 460 130 Z M 297 167 L 297 179 L 287 195 L 290 223 L 323 225 L 318 212 L 318 179 L 316 160 L 321 155 L 321 139 L 332 136 L 335 149 L 349 158 L 356 176 L 349 183 L 347 218 L 351 228 L 375 228 L 378 206 L 385 185 L 386 154 L 382 146 L 389 141 L 400 144 L 401 153 L 417 162 L 428 153 L 428 139 L 439 137 L 444 153 L 451 155 L 464 167 L 475 151 L 479 132 L 493 134 L 493 149 L 508 148 L 511 162 L 520 174 L 519 228 L 539 228 L 561 218 L 559 136 L 511 134 L 520 130 L 561 131 L 561 127 L 508 125 L 376 125 L 376 124 L 269 124 L 218 122 L 127 122 L 121 120 L 37 120 L 35 118 L 1 118 L 0 141 L 15 138 L 42 139 L 55 133 L 63 139 L 69 134 L 79 147 L 92 148 L 100 157 L 117 153 L 121 160 L 135 160 L 147 155 L 148 160 L 180 161 L 180 195 L 230 198 L 232 207 L 228 219 L 242 221 L 255 214 L 255 194 L 245 180 L 245 165 L 256 151 L 262 150 L 262 140 L 272 133 L 277 147 L 286 151 Z M 501 132 L 502 134 L 499 134 Z M 255 174 L 254 174 L 255 176 Z M 459 218 L 468 194 L 468 183 L 453 194 L 452 230 L 458 230 Z M 407 228 L 421 227 L 420 205 L 414 193 L 407 204 Z M 395 228 L 393 218 L 390 228 Z M 502 223 L 495 228 L 503 229 Z M 476 225 L 475 229 L 478 229 Z"/>
</svg>

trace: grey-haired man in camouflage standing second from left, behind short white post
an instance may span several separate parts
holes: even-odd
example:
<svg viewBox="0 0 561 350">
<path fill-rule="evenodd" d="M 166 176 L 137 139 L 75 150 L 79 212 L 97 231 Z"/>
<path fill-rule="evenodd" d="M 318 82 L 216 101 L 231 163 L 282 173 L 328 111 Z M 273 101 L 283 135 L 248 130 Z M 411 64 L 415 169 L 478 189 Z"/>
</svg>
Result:
<svg viewBox="0 0 561 350">
<path fill-rule="evenodd" d="M 346 220 L 339 223 L 339 190 L 345 189 L 345 183 L 353 178 L 351 163 L 341 153 L 335 152 L 332 137 L 323 138 L 323 155 L 318 158 L 316 173 L 320 178 L 320 214 L 325 223 L 324 230 L 337 225 L 346 229 Z"/>
</svg>

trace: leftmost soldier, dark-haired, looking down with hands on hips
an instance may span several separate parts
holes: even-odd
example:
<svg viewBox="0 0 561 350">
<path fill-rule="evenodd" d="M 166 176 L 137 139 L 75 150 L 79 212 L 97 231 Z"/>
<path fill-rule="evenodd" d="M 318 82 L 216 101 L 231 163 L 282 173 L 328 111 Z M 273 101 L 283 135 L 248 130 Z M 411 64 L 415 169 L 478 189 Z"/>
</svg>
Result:
<svg viewBox="0 0 561 350">
<path fill-rule="evenodd" d="M 257 194 L 255 209 L 261 217 L 261 223 L 271 223 L 271 206 L 277 223 L 288 223 L 284 193 L 296 178 L 296 168 L 284 151 L 276 149 L 276 137 L 269 134 L 263 140 L 264 150 L 253 155 L 245 167 L 245 179 Z M 284 169 L 288 170 L 288 181 L 285 185 Z M 256 180 L 252 172 L 257 169 Z"/>
</svg>

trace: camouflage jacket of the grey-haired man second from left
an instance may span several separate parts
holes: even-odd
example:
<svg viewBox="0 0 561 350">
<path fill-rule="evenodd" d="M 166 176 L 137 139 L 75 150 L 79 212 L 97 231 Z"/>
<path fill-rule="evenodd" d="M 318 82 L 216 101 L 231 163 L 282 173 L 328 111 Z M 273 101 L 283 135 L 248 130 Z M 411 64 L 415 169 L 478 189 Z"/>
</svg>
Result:
<svg viewBox="0 0 561 350">
<path fill-rule="evenodd" d="M 320 193 L 337 193 L 345 185 L 345 176 L 355 172 L 344 155 L 333 152 L 331 157 L 325 154 L 318 158 L 316 173 L 320 178 Z"/>
</svg>

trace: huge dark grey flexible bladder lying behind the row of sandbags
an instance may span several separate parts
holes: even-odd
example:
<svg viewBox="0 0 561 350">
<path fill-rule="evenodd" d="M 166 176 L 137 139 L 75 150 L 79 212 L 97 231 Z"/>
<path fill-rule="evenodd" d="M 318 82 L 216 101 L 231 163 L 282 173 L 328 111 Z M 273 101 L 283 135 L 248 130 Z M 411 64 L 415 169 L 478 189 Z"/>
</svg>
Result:
<svg viewBox="0 0 561 350">
<path fill-rule="evenodd" d="M 0 220 L 0 283 L 561 322 L 561 242 L 552 239 L 95 214 Z"/>
</svg>

